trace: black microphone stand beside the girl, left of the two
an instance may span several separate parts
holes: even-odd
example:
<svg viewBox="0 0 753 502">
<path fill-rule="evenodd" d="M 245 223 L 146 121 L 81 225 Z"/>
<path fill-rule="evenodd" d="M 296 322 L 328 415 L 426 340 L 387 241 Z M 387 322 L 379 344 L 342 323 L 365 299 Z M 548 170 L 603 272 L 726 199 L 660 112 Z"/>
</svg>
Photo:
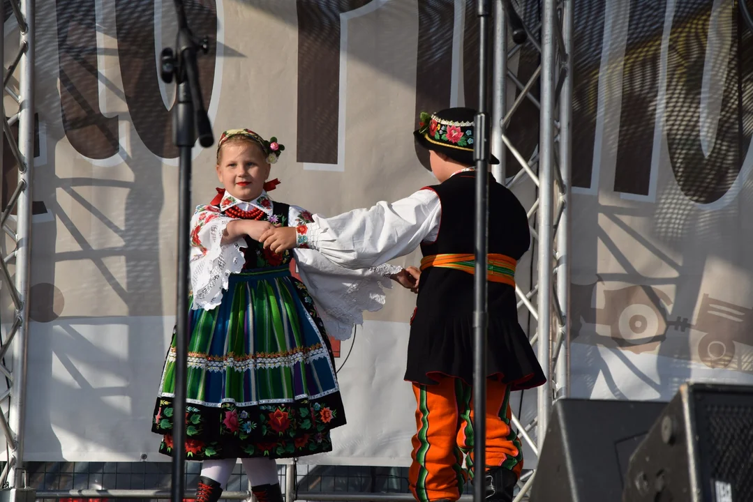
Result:
<svg viewBox="0 0 753 502">
<path fill-rule="evenodd" d="M 185 439 L 186 424 L 183 419 L 186 407 L 186 378 L 188 339 L 188 291 L 190 269 L 188 252 L 191 242 L 191 150 L 197 135 L 200 145 L 211 147 L 215 138 L 212 124 L 206 114 L 199 71 L 197 51 L 206 53 L 209 40 L 199 40 L 188 28 L 182 0 L 175 0 L 178 13 L 178 39 L 176 50 L 167 47 L 162 51 L 161 78 L 166 84 L 173 79 L 178 84 L 178 102 L 172 108 L 172 141 L 180 151 L 178 175 L 178 306 L 175 327 L 175 390 L 172 400 L 172 502 L 183 502 L 185 492 Z"/>
</svg>

